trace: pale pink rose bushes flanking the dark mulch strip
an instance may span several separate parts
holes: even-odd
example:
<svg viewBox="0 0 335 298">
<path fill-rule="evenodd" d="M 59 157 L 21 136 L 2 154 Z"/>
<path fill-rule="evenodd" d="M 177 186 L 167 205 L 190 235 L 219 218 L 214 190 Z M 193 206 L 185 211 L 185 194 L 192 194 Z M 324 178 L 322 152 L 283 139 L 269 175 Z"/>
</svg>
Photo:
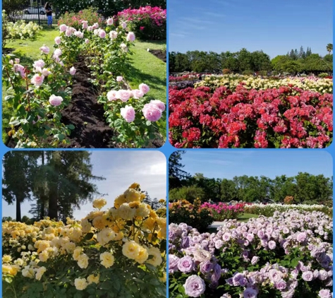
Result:
<svg viewBox="0 0 335 298">
<path fill-rule="evenodd" d="M 91 81 L 99 89 L 98 102 L 116 131 L 114 141 L 142 147 L 157 137 L 159 124 L 155 122 L 163 115 L 164 103 L 145 96 L 150 90 L 145 83 L 128 90 L 123 80 L 135 35 L 125 22 L 116 27 L 109 18 L 106 25 L 102 29 L 98 23 L 82 21 L 80 31 L 62 24 L 54 52 L 42 46 L 42 59 L 29 67 L 12 55 L 3 57 L 5 100 L 14 112 L 9 134 L 17 141 L 16 147 L 56 147 L 68 142 L 66 136 L 75 127 L 61 123 L 61 111 L 71 99 L 73 64 L 79 55 L 86 56 Z"/>
</svg>

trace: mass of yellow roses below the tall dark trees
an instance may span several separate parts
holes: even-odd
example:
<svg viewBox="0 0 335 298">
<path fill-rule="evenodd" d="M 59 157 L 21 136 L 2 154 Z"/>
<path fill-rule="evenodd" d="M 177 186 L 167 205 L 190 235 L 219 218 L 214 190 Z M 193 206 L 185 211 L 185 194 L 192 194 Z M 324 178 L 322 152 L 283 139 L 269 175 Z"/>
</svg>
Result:
<svg viewBox="0 0 335 298">
<path fill-rule="evenodd" d="M 142 202 L 145 195 L 139 189 L 139 184 L 132 184 L 114 200 L 114 207 L 106 211 L 102 210 L 106 200 L 99 198 L 93 201 L 95 210 L 83 220 L 67 218 L 66 225 L 49 218 L 34 225 L 4 222 L 4 275 L 13 277 L 20 271 L 25 278 L 41 280 L 47 269 L 39 266 L 40 261 L 75 261 L 78 269 L 90 267 L 91 272 L 96 272 L 97 263 L 104 268 L 115 266 L 119 261 L 115 258 L 117 251 L 132 260 L 134 266 L 145 263 L 163 266 L 165 253 L 158 247 L 166 239 L 166 217 L 159 215 L 165 215 L 166 209 L 152 210 Z M 22 258 L 13 260 L 13 249 L 20 252 Z M 99 275 L 81 276 L 74 284 L 77 290 L 85 290 L 92 282 L 99 283 Z"/>
</svg>

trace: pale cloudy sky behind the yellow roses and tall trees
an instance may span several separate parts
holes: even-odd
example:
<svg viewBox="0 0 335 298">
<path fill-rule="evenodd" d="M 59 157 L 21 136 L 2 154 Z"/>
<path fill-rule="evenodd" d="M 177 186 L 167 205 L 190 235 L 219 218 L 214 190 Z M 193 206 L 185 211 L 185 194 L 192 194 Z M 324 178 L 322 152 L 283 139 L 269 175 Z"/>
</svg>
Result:
<svg viewBox="0 0 335 298">
<path fill-rule="evenodd" d="M 92 173 L 106 178 L 95 181 L 104 196 L 107 207 L 113 207 L 114 198 L 130 184 L 138 182 L 151 198 L 166 198 L 166 158 L 159 151 L 93 151 L 91 155 Z M 16 217 L 16 205 L 8 205 L 2 200 L 2 216 Z M 32 217 L 28 211 L 30 202 L 21 204 L 21 215 Z M 92 211 L 92 203 L 82 205 L 73 213 L 80 220 Z"/>
</svg>

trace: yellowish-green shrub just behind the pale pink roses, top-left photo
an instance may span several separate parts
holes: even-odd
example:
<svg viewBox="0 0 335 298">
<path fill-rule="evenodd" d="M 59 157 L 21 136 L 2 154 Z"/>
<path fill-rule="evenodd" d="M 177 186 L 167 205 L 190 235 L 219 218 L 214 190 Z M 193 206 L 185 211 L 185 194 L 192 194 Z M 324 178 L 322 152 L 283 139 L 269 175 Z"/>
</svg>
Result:
<svg viewBox="0 0 335 298">
<path fill-rule="evenodd" d="M 85 8 L 78 13 L 64 13 L 63 16 L 59 18 L 58 25 L 65 24 L 67 26 L 75 28 L 76 30 L 82 30 L 83 20 L 87 20 L 90 24 L 98 23 L 99 27 L 101 27 L 103 24 L 103 18 L 97 13 L 97 8 L 90 7 Z"/>
</svg>

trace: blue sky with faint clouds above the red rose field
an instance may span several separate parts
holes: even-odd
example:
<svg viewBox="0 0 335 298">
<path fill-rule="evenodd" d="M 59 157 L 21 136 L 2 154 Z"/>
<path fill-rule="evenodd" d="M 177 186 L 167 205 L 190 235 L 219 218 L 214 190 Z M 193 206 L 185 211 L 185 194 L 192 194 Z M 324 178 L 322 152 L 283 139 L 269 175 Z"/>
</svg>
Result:
<svg viewBox="0 0 335 298">
<path fill-rule="evenodd" d="M 303 46 L 324 56 L 333 41 L 331 0 L 169 0 L 169 52 L 250 52 L 271 58 Z"/>
</svg>

